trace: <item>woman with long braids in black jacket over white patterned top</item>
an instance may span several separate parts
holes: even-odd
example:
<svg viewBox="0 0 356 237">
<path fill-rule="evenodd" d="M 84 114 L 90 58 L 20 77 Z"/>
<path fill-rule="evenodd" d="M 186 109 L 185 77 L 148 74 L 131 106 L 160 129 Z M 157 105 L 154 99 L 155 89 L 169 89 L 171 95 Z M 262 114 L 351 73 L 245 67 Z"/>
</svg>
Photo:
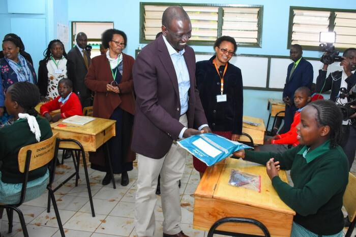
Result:
<svg viewBox="0 0 356 237">
<path fill-rule="evenodd" d="M 38 68 L 38 88 L 41 100 L 55 99 L 59 94 L 58 82 L 63 78 L 75 81 L 74 63 L 68 60 L 64 45 L 60 40 L 49 42 L 44 59 Z"/>
</svg>

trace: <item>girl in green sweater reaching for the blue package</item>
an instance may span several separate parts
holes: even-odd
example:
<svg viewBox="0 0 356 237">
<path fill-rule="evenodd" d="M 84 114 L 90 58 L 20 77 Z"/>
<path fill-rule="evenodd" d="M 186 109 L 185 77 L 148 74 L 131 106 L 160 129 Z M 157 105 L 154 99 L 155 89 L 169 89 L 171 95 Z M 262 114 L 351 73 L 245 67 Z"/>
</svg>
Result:
<svg viewBox="0 0 356 237">
<path fill-rule="evenodd" d="M 239 151 L 234 155 L 266 165 L 279 197 L 296 212 L 291 236 L 342 236 L 342 197 L 348 182 L 348 161 L 338 145 L 342 136 L 339 108 L 316 100 L 301 112 L 300 145 L 283 153 Z M 290 170 L 293 187 L 278 170 Z"/>
</svg>

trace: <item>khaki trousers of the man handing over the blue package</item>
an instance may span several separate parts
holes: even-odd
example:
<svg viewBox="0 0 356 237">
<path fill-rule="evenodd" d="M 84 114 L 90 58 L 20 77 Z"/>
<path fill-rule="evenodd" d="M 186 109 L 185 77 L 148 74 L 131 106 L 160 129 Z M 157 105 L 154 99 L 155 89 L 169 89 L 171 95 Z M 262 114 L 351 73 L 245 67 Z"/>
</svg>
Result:
<svg viewBox="0 0 356 237">
<path fill-rule="evenodd" d="M 179 120 L 188 125 L 186 115 Z M 154 138 L 153 138 L 154 139 Z M 138 178 L 136 181 L 135 229 L 138 236 L 154 236 L 156 188 L 158 175 L 161 174 L 161 197 L 163 209 L 163 232 L 177 234 L 181 232 L 182 219 L 178 182 L 183 176 L 187 152 L 173 142 L 167 154 L 161 159 L 152 159 L 138 155 Z"/>
</svg>

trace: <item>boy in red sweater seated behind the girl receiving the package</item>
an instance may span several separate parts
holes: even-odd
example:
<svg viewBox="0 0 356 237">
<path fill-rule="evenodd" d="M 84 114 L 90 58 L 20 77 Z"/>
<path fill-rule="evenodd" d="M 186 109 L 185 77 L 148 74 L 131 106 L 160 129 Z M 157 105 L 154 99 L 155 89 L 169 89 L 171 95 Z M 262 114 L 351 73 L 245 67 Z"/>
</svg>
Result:
<svg viewBox="0 0 356 237">
<path fill-rule="evenodd" d="M 264 145 L 255 148 L 256 151 L 271 151 L 281 152 L 288 149 L 288 145 L 293 147 L 298 146 L 299 142 L 296 139 L 296 125 L 301 121 L 301 111 L 311 101 L 311 91 L 308 87 L 299 87 L 294 92 L 294 104 L 299 110 L 295 112 L 293 123 L 290 125 L 289 131 L 283 134 L 270 137 L 264 141 Z"/>
</svg>

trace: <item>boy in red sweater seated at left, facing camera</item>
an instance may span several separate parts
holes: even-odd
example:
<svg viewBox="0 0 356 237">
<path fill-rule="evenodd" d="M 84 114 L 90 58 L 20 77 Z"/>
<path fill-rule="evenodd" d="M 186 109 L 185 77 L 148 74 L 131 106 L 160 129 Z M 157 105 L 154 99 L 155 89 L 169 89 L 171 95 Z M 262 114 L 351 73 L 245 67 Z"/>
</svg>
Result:
<svg viewBox="0 0 356 237">
<path fill-rule="evenodd" d="M 73 115 L 83 115 L 80 100 L 78 96 L 72 92 L 72 81 L 68 78 L 61 79 L 58 82 L 57 89 L 60 95 L 41 106 L 41 115 L 46 117 L 49 122 L 57 122 L 61 118 L 68 118 Z M 49 112 L 58 109 L 61 109 L 60 114 L 56 114 L 53 117 L 49 114 Z"/>
</svg>

